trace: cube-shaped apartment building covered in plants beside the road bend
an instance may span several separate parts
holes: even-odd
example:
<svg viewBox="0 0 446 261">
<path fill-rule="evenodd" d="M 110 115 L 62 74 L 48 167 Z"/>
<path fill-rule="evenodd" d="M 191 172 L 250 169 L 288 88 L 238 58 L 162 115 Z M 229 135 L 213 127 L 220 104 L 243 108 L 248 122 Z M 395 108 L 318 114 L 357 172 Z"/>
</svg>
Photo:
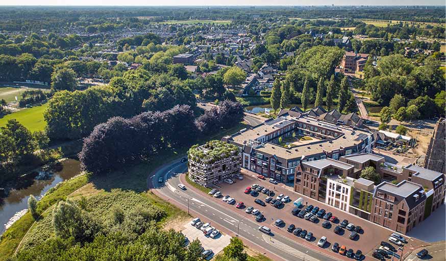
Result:
<svg viewBox="0 0 446 261">
<path fill-rule="evenodd" d="M 219 140 L 192 146 L 188 153 L 189 178 L 210 186 L 240 173 L 239 149 Z"/>
</svg>

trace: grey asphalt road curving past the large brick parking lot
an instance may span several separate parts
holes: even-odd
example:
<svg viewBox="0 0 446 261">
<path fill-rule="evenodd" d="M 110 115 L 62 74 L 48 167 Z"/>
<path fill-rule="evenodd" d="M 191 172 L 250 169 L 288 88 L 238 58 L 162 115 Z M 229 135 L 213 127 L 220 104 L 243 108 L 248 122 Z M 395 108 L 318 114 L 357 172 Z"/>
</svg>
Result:
<svg viewBox="0 0 446 261">
<path fill-rule="evenodd" d="M 190 211 L 200 213 L 201 220 L 218 224 L 219 226 L 238 234 L 243 240 L 257 245 L 260 250 L 268 251 L 284 260 L 338 260 L 326 254 L 308 249 L 280 234 L 274 234 L 278 228 L 271 227 L 272 233 L 266 235 L 258 230 L 259 223 L 246 219 L 229 208 L 222 208 L 217 203 L 209 200 L 207 195 L 199 194 L 192 189 L 182 190 L 178 188 L 179 174 L 187 170 L 187 165 L 178 160 L 165 165 L 147 181 L 148 185 L 157 189 L 157 193 L 170 199 L 170 203 L 190 208 Z M 159 183 L 159 177 L 164 182 Z M 186 184 L 187 186 L 187 184 Z M 282 228 L 283 229 L 283 228 Z M 285 228 L 286 229 L 286 228 Z"/>
</svg>

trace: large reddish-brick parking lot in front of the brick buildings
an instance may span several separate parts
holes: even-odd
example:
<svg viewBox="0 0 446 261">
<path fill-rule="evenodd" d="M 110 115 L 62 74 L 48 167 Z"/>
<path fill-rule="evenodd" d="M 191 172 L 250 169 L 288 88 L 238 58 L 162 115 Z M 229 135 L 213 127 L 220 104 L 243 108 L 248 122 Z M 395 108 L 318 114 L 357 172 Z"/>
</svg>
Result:
<svg viewBox="0 0 446 261">
<path fill-rule="evenodd" d="M 287 232 L 287 228 L 290 224 L 294 224 L 296 228 L 300 227 L 303 230 L 307 230 L 307 232 L 312 232 L 313 236 L 310 240 L 310 244 L 317 244 L 317 241 L 321 238 L 321 236 L 326 236 L 327 243 L 324 245 L 326 251 L 331 252 L 333 244 L 338 243 L 339 246 L 345 246 L 347 250 L 353 249 L 354 252 L 356 252 L 358 249 L 361 250 L 366 259 L 373 259 L 373 257 L 371 257 L 373 251 L 379 247 L 381 241 L 387 242 L 389 235 L 392 233 L 392 231 L 389 229 L 375 225 L 354 215 L 350 215 L 349 213 L 343 212 L 340 209 L 325 205 L 323 202 L 309 199 L 300 194 L 294 193 L 290 190 L 291 188 L 285 187 L 284 184 L 276 185 L 269 183 L 267 179 L 257 179 L 255 173 L 246 170 L 242 170 L 242 174 L 244 179 L 236 180 L 234 184 L 219 184 L 219 186 L 221 187 L 220 191 L 222 195 L 230 195 L 235 200 L 234 204 L 228 205 L 225 202 L 222 202 L 221 198 L 219 200 L 215 200 L 219 201 L 220 204 L 226 204 L 227 207 L 234 208 L 234 210 L 238 211 L 241 215 L 250 217 L 253 220 L 255 220 L 255 216 L 246 213 L 246 208 L 253 206 L 256 209 L 259 209 L 260 212 L 265 216 L 265 218 L 261 222 L 259 222 L 259 224 L 268 226 L 269 228 L 278 231 L 282 235 L 287 236 L 288 238 L 304 245 L 308 244 L 309 242 L 303 238 L 300 238 L 299 236 Z M 265 202 L 265 198 L 267 197 L 267 195 L 259 193 L 258 196 L 254 197 L 250 194 L 245 194 L 244 189 L 247 186 L 251 186 L 253 183 L 259 184 L 274 191 L 275 195 L 273 198 L 276 198 L 279 194 L 284 194 L 290 197 L 290 201 L 282 204 L 279 208 L 271 206 L 269 203 L 266 203 L 266 206 L 256 204 L 254 202 L 255 199 L 260 199 Z M 318 222 L 313 223 L 309 220 L 293 216 L 291 214 L 291 210 L 294 208 L 293 201 L 300 197 L 303 198 L 303 204 L 305 205 L 303 209 L 305 209 L 305 207 L 310 204 L 312 204 L 313 206 L 318 206 L 320 209 L 324 208 L 327 212 L 332 212 L 333 216 L 337 217 L 337 221 L 330 222 L 329 226 L 327 226 L 327 228 L 324 228 L 321 226 L 321 224 L 324 222 L 324 219 L 319 218 Z M 244 203 L 244 206 L 240 209 L 237 209 L 236 204 L 240 201 Z M 285 224 L 282 224 L 282 226 L 278 228 L 274 225 L 277 219 L 283 220 Z M 358 236 L 354 240 L 349 239 L 350 231 L 345 228 L 342 229 L 339 234 L 333 232 L 333 229 L 344 219 L 348 220 L 349 223 L 353 223 L 355 226 L 362 227 L 361 231 L 358 233 Z M 405 249 L 405 252 L 407 252 L 407 250 L 414 249 L 421 244 L 422 242 L 420 241 L 410 240 L 406 245 L 407 247 Z M 331 252 L 331 254 L 333 254 L 333 252 Z"/>
</svg>

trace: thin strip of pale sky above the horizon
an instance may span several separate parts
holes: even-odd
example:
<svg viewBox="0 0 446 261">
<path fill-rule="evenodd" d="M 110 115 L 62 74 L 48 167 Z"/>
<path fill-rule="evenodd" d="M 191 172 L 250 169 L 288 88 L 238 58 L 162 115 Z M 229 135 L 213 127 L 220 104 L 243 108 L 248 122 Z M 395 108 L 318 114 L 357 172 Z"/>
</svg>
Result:
<svg viewBox="0 0 446 261">
<path fill-rule="evenodd" d="M 0 6 L 309 6 L 309 5 L 436 5 L 444 6 L 444 0 L 0 0 Z"/>
</svg>

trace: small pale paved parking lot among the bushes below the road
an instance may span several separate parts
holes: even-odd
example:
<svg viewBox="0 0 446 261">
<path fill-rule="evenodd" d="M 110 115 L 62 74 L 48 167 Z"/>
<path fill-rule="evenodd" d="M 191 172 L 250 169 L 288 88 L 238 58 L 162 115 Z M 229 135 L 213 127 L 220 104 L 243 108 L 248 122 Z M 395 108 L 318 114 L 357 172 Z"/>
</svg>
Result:
<svg viewBox="0 0 446 261">
<path fill-rule="evenodd" d="M 204 220 L 204 222 L 207 222 Z M 212 224 L 211 224 L 212 226 Z M 190 221 L 184 224 L 184 229 L 181 232 L 188 238 L 189 242 L 198 239 L 202 243 L 202 246 L 205 250 L 210 249 L 213 251 L 213 254 L 210 255 L 207 260 L 211 259 L 214 255 L 218 254 L 223 248 L 229 245 L 231 236 L 219 234 L 215 236 L 215 238 L 210 238 L 209 236 L 205 236 L 203 231 L 195 226 L 190 224 Z"/>
</svg>

